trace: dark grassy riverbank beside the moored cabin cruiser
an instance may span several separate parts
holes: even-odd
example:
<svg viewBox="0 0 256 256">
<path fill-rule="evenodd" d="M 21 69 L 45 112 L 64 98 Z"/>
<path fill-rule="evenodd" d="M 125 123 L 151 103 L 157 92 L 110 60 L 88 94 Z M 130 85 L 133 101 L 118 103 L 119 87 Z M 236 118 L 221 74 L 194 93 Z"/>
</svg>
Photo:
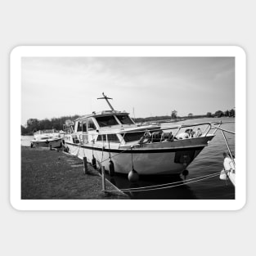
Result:
<svg viewBox="0 0 256 256">
<path fill-rule="evenodd" d="M 47 148 L 21 147 L 22 200 L 84 200 L 128 199 L 117 191 L 101 191 L 101 176 L 88 164 L 83 173 L 83 161 L 73 155 Z M 113 190 L 106 182 L 106 190 Z"/>
</svg>

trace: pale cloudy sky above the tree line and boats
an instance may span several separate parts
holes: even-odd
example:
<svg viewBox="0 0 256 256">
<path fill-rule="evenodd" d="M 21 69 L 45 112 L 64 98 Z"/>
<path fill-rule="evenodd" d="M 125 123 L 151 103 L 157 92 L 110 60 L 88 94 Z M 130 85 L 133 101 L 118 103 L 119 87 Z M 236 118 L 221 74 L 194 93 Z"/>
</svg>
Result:
<svg viewBox="0 0 256 256">
<path fill-rule="evenodd" d="M 23 57 L 21 124 L 109 110 L 131 117 L 235 107 L 234 57 Z"/>
</svg>

